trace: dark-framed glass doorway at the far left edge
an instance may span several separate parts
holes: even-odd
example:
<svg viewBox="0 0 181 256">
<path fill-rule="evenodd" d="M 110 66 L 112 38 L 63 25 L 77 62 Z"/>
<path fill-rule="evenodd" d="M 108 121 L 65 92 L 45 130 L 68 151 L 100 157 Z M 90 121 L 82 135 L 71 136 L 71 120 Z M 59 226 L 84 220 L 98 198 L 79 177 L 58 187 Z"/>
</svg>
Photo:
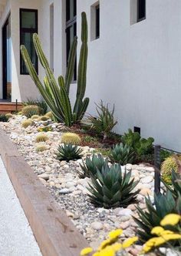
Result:
<svg viewBox="0 0 181 256">
<path fill-rule="evenodd" d="M 2 74 L 3 74 L 3 99 L 12 99 L 12 39 L 11 15 L 2 28 Z"/>
</svg>

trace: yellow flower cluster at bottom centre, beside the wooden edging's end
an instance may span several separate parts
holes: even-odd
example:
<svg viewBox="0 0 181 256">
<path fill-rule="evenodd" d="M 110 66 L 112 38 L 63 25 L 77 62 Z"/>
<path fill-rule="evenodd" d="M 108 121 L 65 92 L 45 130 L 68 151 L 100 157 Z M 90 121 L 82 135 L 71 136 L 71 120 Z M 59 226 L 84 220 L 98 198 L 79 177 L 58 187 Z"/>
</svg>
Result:
<svg viewBox="0 0 181 256">
<path fill-rule="evenodd" d="M 122 229 L 110 231 L 108 238 L 100 244 L 97 251 L 94 251 L 93 248 L 84 248 L 81 251 L 81 256 L 116 256 L 117 252 L 120 252 L 119 255 L 127 255 L 125 249 L 130 248 L 131 245 L 136 243 L 138 237 L 130 237 L 121 242 L 121 234 L 123 234 Z"/>
</svg>

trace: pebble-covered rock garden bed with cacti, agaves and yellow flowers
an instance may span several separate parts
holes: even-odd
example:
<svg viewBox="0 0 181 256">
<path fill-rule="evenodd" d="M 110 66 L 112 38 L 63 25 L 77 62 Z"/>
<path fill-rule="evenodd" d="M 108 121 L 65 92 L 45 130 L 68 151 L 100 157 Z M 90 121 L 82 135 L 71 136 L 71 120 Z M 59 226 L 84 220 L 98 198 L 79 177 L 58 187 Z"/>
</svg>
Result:
<svg viewBox="0 0 181 256">
<path fill-rule="evenodd" d="M 1 115 L 0 127 L 86 237 L 91 247 L 81 255 L 180 255 L 181 157 L 160 151 L 161 190 L 154 194 L 154 139 L 142 138 L 132 130 L 122 136 L 114 133 L 114 106 L 102 101 L 96 106 L 97 114 L 87 114 L 86 14 L 82 13 L 74 105 L 69 91 L 77 37 L 66 75 L 58 79 L 38 35 L 33 39 L 46 75 L 43 83 L 24 45 L 21 54 L 43 99 L 27 99 L 21 113 Z"/>
</svg>

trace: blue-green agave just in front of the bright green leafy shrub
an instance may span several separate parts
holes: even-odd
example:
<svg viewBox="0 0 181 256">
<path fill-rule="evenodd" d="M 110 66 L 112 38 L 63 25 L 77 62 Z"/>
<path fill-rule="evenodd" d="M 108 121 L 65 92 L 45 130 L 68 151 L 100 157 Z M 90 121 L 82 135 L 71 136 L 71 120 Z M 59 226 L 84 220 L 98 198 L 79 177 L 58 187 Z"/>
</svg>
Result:
<svg viewBox="0 0 181 256">
<path fill-rule="evenodd" d="M 120 163 L 120 165 L 133 163 L 135 158 L 136 154 L 133 148 L 127 146 L 127 144 L 117 144 L 114 146 L 113 150 L 110 151 L 110 160 L 114 163 Z"/>
</svg>

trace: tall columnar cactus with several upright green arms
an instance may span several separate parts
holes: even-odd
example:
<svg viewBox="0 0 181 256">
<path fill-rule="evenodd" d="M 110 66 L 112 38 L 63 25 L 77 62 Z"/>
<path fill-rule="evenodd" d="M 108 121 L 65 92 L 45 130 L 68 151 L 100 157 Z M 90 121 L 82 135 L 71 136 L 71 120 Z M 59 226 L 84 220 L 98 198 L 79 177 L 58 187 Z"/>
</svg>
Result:
<svg viewBox="0 0 181 256">
<path fill-rule="evenodd" d="M 58 83 L 54 78 L 54 74 L 48 64 L 48 59 L 44 55 L 40 39 L 37 34 L 33 35 L 33 42 L 35 50 L 38 55 L 38 59 L 44 68 L 45 77 L 44 83 L 41 83 L 38 78 L 38 74 L 32 65 L 28 51 L 25 45 L 21 45 L 21 55 L 25 61 L 25 65 L 28 72 L 33 79 L 35 85 L 38 87 L 45 102 L 51 108 L 54 117 L 61 123 L 65 123 L 66 126 L 71 126 L 74 123 L 81 121 L 84 113 L 87 110 L 89 99 L 84 99 L 86 89 L 86 74 L 87 74 L 87 17 L 85 12 L 81 14 L 82 29 L 81 29 L 81 52 L 78 64 L 78 76 L 77 76 L 77 95 L 74 104 L 74 110 L 71 109 L 71 103 L 69 99 L 69 90 L 71 86 L 72 77 L 74 74 L 74 63 L 77 52 L 77 36 L 74 38 L 74 42 L 71 45 L 71 51 L 68 58 L 67 72 L 65 79 L 63 76 L 58 77 Z"/>
</svg>

